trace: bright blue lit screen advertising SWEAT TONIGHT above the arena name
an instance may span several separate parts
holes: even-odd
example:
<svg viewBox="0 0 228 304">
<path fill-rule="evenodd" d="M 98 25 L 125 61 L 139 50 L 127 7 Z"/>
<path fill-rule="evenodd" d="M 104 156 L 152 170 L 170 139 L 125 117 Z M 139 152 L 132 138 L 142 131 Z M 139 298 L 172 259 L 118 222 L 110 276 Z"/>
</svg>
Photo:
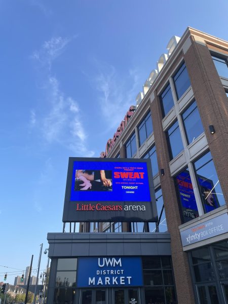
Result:
<svg viewBox="0 0 228 304">
<path fill-rule="evenodd" d="M 70 200 L 150 202 L 147 165 L 75 161 Z"/>
</svg>

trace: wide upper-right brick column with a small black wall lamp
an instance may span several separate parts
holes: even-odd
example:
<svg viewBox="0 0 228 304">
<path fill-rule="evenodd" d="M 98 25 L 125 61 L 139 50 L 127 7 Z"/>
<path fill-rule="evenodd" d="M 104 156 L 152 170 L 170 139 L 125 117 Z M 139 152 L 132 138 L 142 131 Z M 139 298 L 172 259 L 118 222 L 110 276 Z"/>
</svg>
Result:
<svg viewBox="0 0 228 304">
<path fill-rule="evenodd" d="M 184 61 L 227 205 L 228 99 L 207 46 L 197 44 L 194 37 L 191 38 L 192 45 L 184 55 Z M 214 126 L 214 134 L 210 134 L 209 125 Z"/>
</svg>

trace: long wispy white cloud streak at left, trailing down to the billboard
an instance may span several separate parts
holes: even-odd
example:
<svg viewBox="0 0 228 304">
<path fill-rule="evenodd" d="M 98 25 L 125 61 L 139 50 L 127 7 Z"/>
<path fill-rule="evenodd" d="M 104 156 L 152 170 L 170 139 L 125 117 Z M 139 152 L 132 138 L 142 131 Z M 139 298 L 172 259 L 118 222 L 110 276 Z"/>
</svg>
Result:
<svg viewBox="0 0 228 304">
<path fill-rule="evenodd" d="M 45 114 L 38 116 L 34 109 L 30 112 L 30 126 L 42 131 L 47 143 L 58 143 L 72 150 L 78 156 L 93 156 L 87 149 L 87 134 L 83 127 L 83 117 L 79 103 L 71 96 L 65 96 L 60 90 L 59 81 L 52 75 L 52 62 L 61 55 L 70 39 L 52 37 L 39 51 L 33 52 L 31 58 L 40 63 L 45 72 L 47 107 Z M 48 70 L 47 70 L 48 67 Z"/>
</svg>

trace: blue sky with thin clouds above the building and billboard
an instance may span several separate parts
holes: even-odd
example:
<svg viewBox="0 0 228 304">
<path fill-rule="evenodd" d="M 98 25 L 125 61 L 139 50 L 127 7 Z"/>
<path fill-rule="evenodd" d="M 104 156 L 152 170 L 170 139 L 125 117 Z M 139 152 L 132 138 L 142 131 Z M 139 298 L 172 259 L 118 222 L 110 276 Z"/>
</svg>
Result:
<svg viewBox="0 0 228 304">
<path fill-rule="evenodd" d="M 62 231 L 68 157 L 99 157 L 171 36 L 228 40 L 227 12 L 226 0 L 1 1 L 0 281 L 31 254 L 36 268 Z"/>
</svg>

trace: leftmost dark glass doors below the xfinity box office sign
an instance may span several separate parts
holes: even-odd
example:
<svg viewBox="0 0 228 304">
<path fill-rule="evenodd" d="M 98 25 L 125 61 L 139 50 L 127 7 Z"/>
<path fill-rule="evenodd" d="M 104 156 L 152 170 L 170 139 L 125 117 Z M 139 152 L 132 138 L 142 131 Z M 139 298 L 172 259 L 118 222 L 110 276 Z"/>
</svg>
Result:
<svg viewBox="0 0 228 304">
<path fill-rule="evenodd" d="M 200 304 L 219 304 L 215 284 L 197 285 L 197 295 Z"/>
</svg>

